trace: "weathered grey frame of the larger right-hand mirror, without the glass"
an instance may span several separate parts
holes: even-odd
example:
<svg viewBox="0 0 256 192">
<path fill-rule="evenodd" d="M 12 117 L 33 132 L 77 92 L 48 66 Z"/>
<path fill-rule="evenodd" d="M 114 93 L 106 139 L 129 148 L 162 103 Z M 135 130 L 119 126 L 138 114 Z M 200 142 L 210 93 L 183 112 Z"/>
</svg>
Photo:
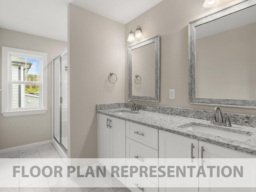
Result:
<svg viewBox="0 0 256 192">
<path fill-rule="evenodd" d="M 188 24 L 188 61 L 189 61 L 189 103 L 210 106 L 256 108 L 256 100 L 196 98 L 196 26 L 224 17 L 228 14 L 256 5 L 256 0 L 245 0 L 213 14 L 194 20 Z"/>
</svg>

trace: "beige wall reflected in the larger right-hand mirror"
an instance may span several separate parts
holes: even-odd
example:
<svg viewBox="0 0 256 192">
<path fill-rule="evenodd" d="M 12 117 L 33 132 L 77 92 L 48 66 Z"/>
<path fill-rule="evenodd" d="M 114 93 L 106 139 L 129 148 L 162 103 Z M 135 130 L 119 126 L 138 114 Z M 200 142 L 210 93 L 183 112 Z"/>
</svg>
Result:
<svg viewBox="0 0 256 192">
<path fill-rule="evenodd" d="M 196 40 L 196 97 L 256 100 L 256 23 Z"/>
</svg>

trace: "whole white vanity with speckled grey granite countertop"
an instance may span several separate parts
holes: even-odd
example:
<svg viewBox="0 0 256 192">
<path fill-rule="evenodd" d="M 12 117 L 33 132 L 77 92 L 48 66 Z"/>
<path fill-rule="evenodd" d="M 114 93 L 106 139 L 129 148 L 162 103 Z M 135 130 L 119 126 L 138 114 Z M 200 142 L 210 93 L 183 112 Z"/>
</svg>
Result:
<svg viewBox="0 0 256 192">
<path fill-rule="evenodd" d="M 148 111 L 131 111 L 129 108 L 98 110 L 98 157 L 138 159 L 138 166 L 147 165 L 144 158 L 255 158 L 256 130 L 252 127 L 213 125 L 210 119 L 200 120 Z M 110 163 L 111 164 L 111 163 Z M 126 180 L 134 185 L 132 191 L 175 191 L 159 188 L 157 178 Z M 148 182 L 156 188 L 145 188 Z M 200 181 L 199 181 L 200 182 Z M 136 188 L 137 187 L 137 188 Z M 239 190 L 236 188 L 236 190 Z M 232 190 L 232 191 L 236 191 Z M 183 188 L 198 192 L 198 188 Z M 200 189 L 201 191 L 226 192 L 226 189 Z M 253 191 L 242 189 L 243 192 Z"/>
</svg>

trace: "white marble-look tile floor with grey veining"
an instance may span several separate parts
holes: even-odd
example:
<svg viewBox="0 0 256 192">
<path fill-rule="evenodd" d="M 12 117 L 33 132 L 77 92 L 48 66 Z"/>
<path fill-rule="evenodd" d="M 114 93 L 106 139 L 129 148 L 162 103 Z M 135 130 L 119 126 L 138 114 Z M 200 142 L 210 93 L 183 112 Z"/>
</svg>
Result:
<svg viewBox="0 0 256 192">
<path fill-rule="evenodd" d="M 64 163 L 52 144 L 3 153 L 0 154 L 0 162 L 1 158 L 20 158 L 20 161 L 24 159 L 24 162 L 26 162 L 26 158 L 33 158 L 34 160 L 38 159 L 38 161 L 36 160 L 33 164 L 44 164 L 47 163 L 47 159 L 56 158 L 58 164 Z M 29 163 L 31 164 L 31 162 Z M 0 183 L 5 181 L 8 182 L 8 176 L 6 177 L 4 174 L 0 174 Z M 107 182 L 102 182 L 102 185 L 98 188 L 80 187 L 81 183 L 79 180 L 77 181 L 77 178 L 71 178 L 69 180 L 37 178 L 33 182 L 34 183 L 31 183 L 30 181 L 30 183 L 27 183 L 22 180 L 22 178 L 19 178 L 18 186 L 16 188 L 0 188 L 0 192 L 130 192 L 128 188 L 111 188 Z M 70 186 L 74 186 L 74 188 L 62 187 L 62 185 L 64 183 L 67 184 L 67 182 Z M 35 185 L 37 187 L 34 187 Z M 44 186 L 44 188 L 38 188 L 38 186 Z"/>
</svg>

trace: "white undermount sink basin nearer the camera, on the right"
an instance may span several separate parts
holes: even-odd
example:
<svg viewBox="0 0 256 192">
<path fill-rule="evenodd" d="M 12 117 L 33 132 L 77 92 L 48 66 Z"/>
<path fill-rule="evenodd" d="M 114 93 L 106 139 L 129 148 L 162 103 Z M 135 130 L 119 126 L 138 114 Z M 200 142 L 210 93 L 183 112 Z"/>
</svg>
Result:
<svg viewBox="0 0 256 192">
<path fill-rule="evenodd" d="M 186 130 L 194 131 L 194 132 L 201 132 L 204 134 L 220 136 L 223 138 L 228 138 L 228 139 L 238 140 L 238 141 L 246 141 L 250 137 L 249 134 L 224 131 L 224 130 L 219 130 L 219 129 L 210 128 L 206 126 L 199 126 L 199 125 L 188 125 L 188 126 L 184 126 L 183 128 Z"/>
</svg>

